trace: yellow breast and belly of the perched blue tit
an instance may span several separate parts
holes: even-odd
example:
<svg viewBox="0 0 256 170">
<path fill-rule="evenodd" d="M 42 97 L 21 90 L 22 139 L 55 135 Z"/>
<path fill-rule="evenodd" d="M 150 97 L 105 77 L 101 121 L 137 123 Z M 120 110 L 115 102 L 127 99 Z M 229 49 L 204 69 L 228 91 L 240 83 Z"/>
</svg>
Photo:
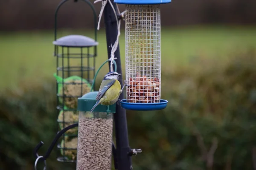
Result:
<svg viewBox="0 0 256 170">
<path fill-rule="evenodd" d="M 121 90 L 121 84 L 115 80 L 114 84 L 106 91 L 101 99 L 102 105 L 113 105 L 117 102 Z"/>
</svg>

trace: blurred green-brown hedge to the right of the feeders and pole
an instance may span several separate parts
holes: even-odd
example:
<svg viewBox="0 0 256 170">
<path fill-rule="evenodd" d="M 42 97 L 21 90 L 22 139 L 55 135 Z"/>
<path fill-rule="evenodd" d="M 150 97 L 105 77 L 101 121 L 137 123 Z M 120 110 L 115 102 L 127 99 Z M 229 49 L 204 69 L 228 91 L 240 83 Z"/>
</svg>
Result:
<svg viewBox="0 0 256 170">
<path fill-rule="evenodd" d="M 253 169 L 255 51 L 222 64 L 210 60 L 207 67 L 200 67 L 206 61 L 197 62 L 162 74 L 162 98 L 169 100 L 165 110 L 128 112 L 131 146 L 143 149 L 134 169 Z"/>
</svg>

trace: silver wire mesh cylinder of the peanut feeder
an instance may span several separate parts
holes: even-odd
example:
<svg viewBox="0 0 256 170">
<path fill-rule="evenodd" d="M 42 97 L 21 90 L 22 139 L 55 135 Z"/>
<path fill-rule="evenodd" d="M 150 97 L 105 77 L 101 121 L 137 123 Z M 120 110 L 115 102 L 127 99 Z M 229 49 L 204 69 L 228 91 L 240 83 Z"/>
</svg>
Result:
<svg viewBox="0 0 256 170">
<path fill-rule="evenodd" d="M 129 103 L 160 102 L 160 5 L 125 5 L 126 98 Z"/>
</svg>

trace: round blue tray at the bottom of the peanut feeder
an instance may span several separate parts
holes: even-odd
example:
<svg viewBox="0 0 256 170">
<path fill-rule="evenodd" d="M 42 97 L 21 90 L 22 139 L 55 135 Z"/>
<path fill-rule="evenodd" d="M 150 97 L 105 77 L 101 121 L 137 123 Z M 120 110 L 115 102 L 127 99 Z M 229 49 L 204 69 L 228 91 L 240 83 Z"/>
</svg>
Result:
<svg viewBox="0 0 256 170">
<path fill-rule="evenodd" d="M 120 101 L 120 106 L 132 111 L 156 111 L 166 108 L 168 101 L 160 99 L 159 103 L 128 103 L 126 99 Z"/>
</svg>

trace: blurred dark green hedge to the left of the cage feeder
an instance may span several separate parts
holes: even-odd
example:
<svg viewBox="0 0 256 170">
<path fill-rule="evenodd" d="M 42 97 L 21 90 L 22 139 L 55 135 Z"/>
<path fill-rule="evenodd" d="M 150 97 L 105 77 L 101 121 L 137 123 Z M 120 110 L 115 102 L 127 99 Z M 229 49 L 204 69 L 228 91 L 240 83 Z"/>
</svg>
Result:
<svg viewBox="0 0 256 170">
<path fill-rule="evenodd" d="M 33 170 L 33 149 L 44 145 L 39 155 L 44 155 L 56 134 L 55 83 L 36 85 L 19 84 L 19 90 L 6 90 L 0 96 L 0 167 L 1 170 Z M 47 159 L 49 170 L 73 167 L 56 161 L 56 150 Z M 40 163 L 38 169 L 42 168 Z M 55 169 L 56 170 L 56 169 Z"/>
</svg>

